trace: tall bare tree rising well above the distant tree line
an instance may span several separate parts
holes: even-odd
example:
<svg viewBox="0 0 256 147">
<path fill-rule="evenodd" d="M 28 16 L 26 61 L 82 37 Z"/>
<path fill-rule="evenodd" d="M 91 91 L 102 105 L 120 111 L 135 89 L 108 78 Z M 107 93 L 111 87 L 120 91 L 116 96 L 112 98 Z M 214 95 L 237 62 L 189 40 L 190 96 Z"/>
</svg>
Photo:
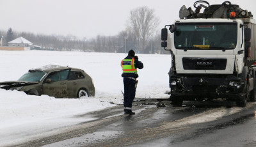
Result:
<svg viewBox="0 0 256 147">
<path fill-rule="evenodd" d="M 154 9 L 147 6 L 131 10 L 129 27 L 138 40 L 140 51 L 143 52 L 148 39 L 154 34 L 159 25 L 159 17 L 154 15 Z M 141 43 L 141 45 L 140 45 Z"/>
</svg>

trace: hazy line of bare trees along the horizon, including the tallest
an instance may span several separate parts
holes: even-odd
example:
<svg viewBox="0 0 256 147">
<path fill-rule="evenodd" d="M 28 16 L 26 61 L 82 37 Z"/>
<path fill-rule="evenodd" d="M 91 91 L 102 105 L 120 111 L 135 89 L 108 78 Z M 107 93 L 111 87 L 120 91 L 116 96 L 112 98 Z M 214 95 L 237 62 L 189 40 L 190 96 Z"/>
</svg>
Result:
<svg viewBox="0 0 256 147">
<path fill-rule="evenodd" d="M 94 51 L 94 52 L 128 52 L 133 49 L 135 52 L 154 54 L 161 49 L 161 36 L 156 30 L 159 25 L 159 17 L 156 17 L 154 10 L 143 6 L 131 10 L 127 27 L 115 36 L 101 36 L 95 38 L 77 38 L 76 36 L 43 35 L 28 32 L 0 31 L 4 36 L 4 45 L 22 36 L 38 45 L 41 49 L 64 50 L 64 51 Z"/>
</svg>

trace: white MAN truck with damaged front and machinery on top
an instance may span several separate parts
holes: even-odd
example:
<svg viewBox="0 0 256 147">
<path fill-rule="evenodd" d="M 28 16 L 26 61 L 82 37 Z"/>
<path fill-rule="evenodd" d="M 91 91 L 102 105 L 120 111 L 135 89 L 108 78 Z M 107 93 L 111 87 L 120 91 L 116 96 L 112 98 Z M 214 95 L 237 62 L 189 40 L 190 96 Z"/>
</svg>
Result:
<svg viewBox="0 0 256 147">
<path fill-rule="evenodd" d="M 161 46 L 172 54 L 172 104 L 216 98 L 235 101 L 240 107 L 254 102 L 256 20 L 252 13 L 229 1 L 214 5 L 196 1 L 194 7 L 195 12 L 182 6 L 180 19 L 161 32 Z"/>
</svg>

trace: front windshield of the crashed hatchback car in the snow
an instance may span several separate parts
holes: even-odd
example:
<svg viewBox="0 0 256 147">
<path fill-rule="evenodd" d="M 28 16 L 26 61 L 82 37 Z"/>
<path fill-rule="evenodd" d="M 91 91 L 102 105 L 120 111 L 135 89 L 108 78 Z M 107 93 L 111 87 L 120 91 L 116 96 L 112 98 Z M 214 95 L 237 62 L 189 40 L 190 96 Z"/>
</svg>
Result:
<svg viewBox="0 0 256 147">
<path fill-rule="evenodd" d="M 18 81 L 40 82 L 45 74 L 46 72 L 39 70 L 29 70 L 29 72 L 22 75 Z"/>
</svg>

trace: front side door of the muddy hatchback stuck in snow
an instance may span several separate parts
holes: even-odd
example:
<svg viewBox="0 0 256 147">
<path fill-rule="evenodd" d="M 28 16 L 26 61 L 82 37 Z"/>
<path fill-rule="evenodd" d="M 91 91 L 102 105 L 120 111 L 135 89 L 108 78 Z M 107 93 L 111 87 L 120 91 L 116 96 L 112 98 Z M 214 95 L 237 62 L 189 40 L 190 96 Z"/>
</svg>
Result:
<svg viewBox="0 0 256 147">
<path fill-rule="evenodd" d="M 43 84 L 44 95 L 56 98 L 68 97 L 67 77 L 69 72 L 70 69 L 60 70 L 47 75 Z"/>
</svg>

